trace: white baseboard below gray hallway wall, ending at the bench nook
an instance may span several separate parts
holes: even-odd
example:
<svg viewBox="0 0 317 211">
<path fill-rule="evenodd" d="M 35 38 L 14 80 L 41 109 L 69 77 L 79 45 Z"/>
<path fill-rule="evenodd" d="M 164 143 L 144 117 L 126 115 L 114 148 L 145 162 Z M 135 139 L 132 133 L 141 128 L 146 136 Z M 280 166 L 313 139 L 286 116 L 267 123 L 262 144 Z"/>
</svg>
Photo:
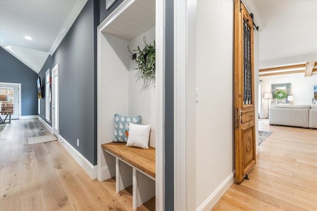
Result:
<svg viewBox="0 0 317 211">
<path fill-rule="evenodd" d="M 61 135 L 58 140 L 62 140 L 61 145 L 75 159 L 75 161 L 88 173 L 92 179 L 97 179 L 97 166 L 93 166 L 82 154 L 80 154 L 70 143 L 68 143 Z"/>
</svg>

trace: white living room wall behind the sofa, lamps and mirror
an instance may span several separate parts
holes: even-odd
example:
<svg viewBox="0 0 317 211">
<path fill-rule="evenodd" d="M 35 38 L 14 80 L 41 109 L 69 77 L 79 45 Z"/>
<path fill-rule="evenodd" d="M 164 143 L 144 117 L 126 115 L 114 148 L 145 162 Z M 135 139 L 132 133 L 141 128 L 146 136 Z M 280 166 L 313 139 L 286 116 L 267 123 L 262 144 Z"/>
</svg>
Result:
<svg viewBox="0 0 317 211">
<path fill-rule="evenodd" d="M 314 97 L 314 85 L 317 85 L 317 72 L 313 72 L 312 76 L 304 77 L 304 73 L 266 76 L 260 77 L 262 80 L 262 91 L 264 93 L 271 92 L 271 84 L 291 83 L 291 94 L 294 97 L 294 105 L 309 105 L 310 100 Z M 270 106 L 269 100 L 268 106 Z M 263 100 L 264 117 L 267 117 L 267 100 Z"/>
</svg>

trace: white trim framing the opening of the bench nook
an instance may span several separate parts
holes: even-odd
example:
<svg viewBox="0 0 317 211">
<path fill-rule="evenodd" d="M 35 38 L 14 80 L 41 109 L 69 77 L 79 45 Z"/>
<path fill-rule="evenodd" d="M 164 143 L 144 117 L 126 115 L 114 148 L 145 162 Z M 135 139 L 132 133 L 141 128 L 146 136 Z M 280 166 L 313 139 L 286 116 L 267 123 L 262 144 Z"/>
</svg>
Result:
<svg viewBox="0 0 317 211">
<path fill-rule="evenodd" d="M 99 99 L 101 99 L 101 35 L 106 26 L 115 19 L 122 11 L 130 6 L 135 0 L 124 0 L 99 26 L 97 29 L 97 111 L 102 109 Z M 156 1 L 156 90 L 158 102 L 158 122 L 156 131 L 156 210 L 164 210 L 164 24 L 165 21 L 165 2 Z M 97 128 L 101 125 L 101 118 L 97 120 Z M 98 179 L 102 179 L 101 159 L 103 152 L 101 149 L 101 133 L 97 129 L 97 169 Z"/>
</svg>

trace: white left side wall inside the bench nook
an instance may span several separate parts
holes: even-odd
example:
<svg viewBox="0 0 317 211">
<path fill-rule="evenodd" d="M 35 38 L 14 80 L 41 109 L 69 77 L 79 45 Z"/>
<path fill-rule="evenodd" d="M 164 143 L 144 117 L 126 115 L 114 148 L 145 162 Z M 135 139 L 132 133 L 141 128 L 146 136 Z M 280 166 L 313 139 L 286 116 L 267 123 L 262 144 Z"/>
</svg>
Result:
<svg viewBox="0 0 317 211">
<path fill-rule="evenodd" d="M 128 67 L 127 41 L 108 34 L 101 35 L 101 102 L 98 111 L 101 143 L 111 142 L 114 134 L 114 114 L 128 113 Z M 102 128 L 102 129 L 101 129 Z M 105 153 L 104 153 L 105 154 Z M 109 156 L 110 157 L 110 156 Z M 114 159 L 101 159 L 102 167 L 113 169 Z M 106 163 L 106 160 L 108 163 Z M 113 176 L 113 175 L 111 175 Z"/>
</svg>

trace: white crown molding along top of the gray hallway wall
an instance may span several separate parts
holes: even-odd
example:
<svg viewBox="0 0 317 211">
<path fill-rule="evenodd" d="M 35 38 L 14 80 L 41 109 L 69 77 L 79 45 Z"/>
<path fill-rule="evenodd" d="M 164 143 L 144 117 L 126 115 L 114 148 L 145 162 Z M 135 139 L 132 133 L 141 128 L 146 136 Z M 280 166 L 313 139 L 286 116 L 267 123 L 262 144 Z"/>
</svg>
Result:
<svg viewBox="0 0 317 211">
<path fill-rule="evenodd" d="M 57 47 L 59 46 L 60 42 L 62 42 L 62 40 L 64 39 L 64 37 L 66 36 L 67 32 L 69 31 L 70 27 L 73 25 L 73 23 L 75 22 L 77 16 L 79 15 L 79 13 L 81 12 L 81 10 L 84 8 L 84 6 L 86 5 L 88 0 L 77 0 L 77 3 L 75 5 L 75 7 L 73 8 L 73 10 L 71 11 L 71 13 L 69 13 L 69 15 L 67 16 L 67 18 L 65 19 L 62 27 L 60 28 L 60 31 L 58 33 L 58 36 L 55 40 L 55 42 L 52 45 L 52 48 L 50 50 L 50 54 L 53 55 L 53 53 L 55 52 L 55 50 L 57 49 Z"/>
</svg>

